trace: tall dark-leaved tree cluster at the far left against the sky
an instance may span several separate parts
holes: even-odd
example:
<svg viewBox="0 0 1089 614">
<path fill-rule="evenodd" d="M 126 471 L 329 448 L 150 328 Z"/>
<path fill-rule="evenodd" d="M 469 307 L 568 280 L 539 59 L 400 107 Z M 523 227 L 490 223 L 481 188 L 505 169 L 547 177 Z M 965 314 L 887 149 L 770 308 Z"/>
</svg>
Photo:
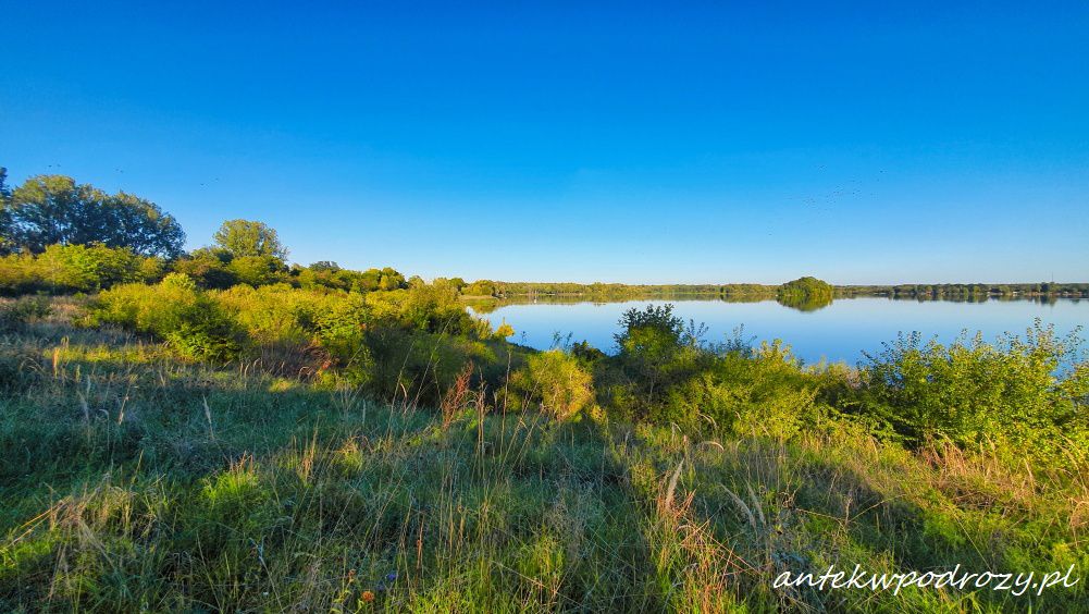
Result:
<svg viewBox="0 0 1089 614">
<path fill-rule="evenodd" d="M 0 240 L 11 250 L 41 253 L 53 244 L 101 243 L 174 257 L 185 242 L 178 220 L 155 203 L 125 192 L 110 195 L 71 177 L 32 177 L 3 201 Z"/>
</svg>

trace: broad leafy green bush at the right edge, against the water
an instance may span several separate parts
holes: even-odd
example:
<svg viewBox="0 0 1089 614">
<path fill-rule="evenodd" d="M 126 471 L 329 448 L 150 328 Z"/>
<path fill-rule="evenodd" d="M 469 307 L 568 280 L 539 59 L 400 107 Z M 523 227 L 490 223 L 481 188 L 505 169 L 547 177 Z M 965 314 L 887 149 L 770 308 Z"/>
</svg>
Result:
<svg viewBox="0 0 1089 614">
<path fill-rule="evenodd" d="M 1064 441 L 1089 444 L 1089 370 L 1078 358 L 1075 335 L 1057 338 L 1039 322 L 996 345 L 901 337 L 862 371 L 865 407 L 911 445 L 1006 443 L 1047 457 Z"/>
</svg>

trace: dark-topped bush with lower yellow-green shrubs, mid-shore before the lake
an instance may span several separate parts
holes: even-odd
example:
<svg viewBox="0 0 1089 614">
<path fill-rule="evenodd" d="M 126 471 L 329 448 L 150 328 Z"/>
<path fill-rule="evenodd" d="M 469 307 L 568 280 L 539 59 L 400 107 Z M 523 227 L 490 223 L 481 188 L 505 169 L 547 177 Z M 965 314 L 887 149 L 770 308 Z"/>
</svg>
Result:
<svg viewBox="0 0 1089 614">
<path fill-rule="evenodd" d="M 827 412 L 818 394 L 829 374 L 804 369 L 779 341 L 703 344 L 672 305 L 629 310 L 620 326 L 616 356 L 592 360 L 601 401 L 621 418 L 791 438 Z"/>
</svg>

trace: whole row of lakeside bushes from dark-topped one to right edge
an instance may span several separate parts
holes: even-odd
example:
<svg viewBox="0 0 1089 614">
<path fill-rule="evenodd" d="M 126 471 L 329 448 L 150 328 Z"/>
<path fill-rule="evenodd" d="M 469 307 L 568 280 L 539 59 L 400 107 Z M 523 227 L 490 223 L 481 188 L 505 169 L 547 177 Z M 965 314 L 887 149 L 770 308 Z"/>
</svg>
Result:
<svg viewBox="0 0 1089 614">
<path fill-rule="evenodd" d="M 631 310 L 620 326 L 616 356 L 591 362 L 600 401 L 624 419 L 793 438 L 836 418 L 913 447 L 947 441 L 1048 462 L 1073 448 L 1086 453 L 1060 463 L 1089 458 L 1077 333 L 1061 339 L 1038 323 L 993 345 L 903 337 L 854 372 L 805 368 L 778 341 L 701 344 L 670 305 Z"/>
</svg>

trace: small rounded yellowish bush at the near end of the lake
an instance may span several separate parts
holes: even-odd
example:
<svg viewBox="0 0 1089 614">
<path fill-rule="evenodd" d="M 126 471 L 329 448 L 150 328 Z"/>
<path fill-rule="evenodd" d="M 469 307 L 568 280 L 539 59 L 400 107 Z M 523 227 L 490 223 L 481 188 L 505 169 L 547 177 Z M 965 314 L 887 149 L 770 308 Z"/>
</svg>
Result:
<svg viewBox="0 0 1089 614">
<path fill-rule="evenodd" d="M 568 418 L 594 401 L 594 377 L 571 354 L 549 350 L 530 356 L 511 377 L 519 404 L 540 404 L 555 418 Z"/>
</svg>

